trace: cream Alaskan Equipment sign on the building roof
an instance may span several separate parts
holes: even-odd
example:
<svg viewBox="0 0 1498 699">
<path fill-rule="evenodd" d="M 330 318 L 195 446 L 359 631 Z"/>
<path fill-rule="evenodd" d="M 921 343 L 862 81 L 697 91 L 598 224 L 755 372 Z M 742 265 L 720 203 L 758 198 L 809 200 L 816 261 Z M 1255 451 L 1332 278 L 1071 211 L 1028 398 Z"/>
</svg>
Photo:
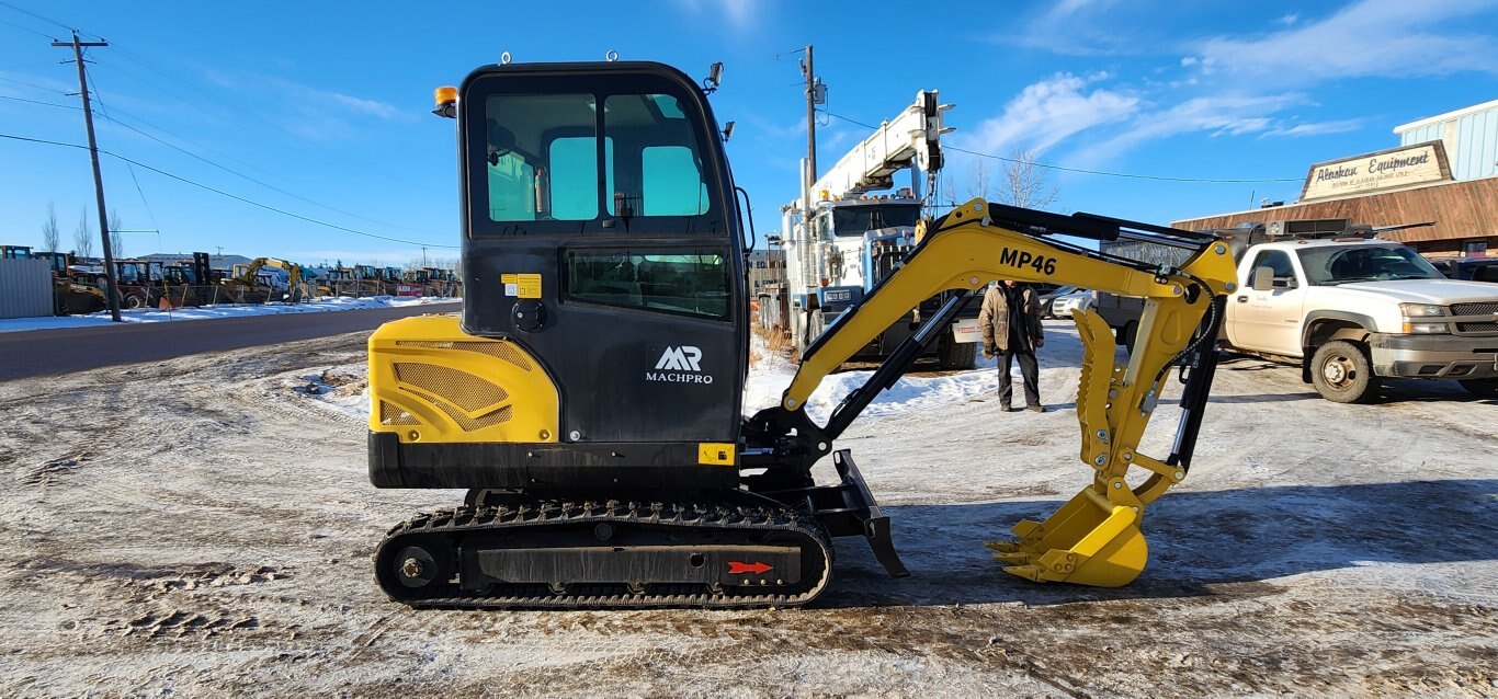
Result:
<svg viewBox="0 0 1498 699">
<path fill-rule="evenodd" d="M 1452 180 L 1446 148 L 1429 141 L 1311 166 L 1300 201 L 1366 195 Z"/>
</svg>

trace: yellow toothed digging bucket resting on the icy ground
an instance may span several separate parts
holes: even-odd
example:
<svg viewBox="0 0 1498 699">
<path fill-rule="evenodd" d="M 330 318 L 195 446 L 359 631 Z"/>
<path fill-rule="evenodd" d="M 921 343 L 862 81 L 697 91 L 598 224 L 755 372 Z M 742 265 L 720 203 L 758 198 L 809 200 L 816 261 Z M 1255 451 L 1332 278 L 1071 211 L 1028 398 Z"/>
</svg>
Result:
<svg viewBox="0 0 1498 699">
<path fill-rule="evenodd" d="M 986 542 L 1004 572 L 1037 582 L 1121 587 L 1138 578 L 1149 545 L 1138 512 L 1085 488 L 1044 522 L 1014 525 L 1017 542 Z"/>
</svg>

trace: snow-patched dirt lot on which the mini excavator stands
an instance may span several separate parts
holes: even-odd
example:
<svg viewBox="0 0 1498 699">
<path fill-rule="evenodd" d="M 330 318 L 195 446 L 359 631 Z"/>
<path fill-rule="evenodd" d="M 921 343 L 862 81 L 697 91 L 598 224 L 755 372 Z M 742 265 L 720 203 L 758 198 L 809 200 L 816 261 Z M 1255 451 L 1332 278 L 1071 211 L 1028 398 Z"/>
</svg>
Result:
<svg viewBox="0 0 1498 699">
<path fill-rule="evenodd" d="M 1037 585 L 981 542 L 1092 473 L 1080 344 L 1050 323 L 1049 413 L 938 398 L 992 370 L 926 373 L 839 439 L 911 578 L 852 537 L 800 609 L 412 611 L 370 554 L 461 492 L 369 485 L 364 340 L 0 383 L 4 695 L 1498 695 L 1498 401 L 1453 385 L 1339 406 L 1231 359 L 1189 477 L 1147 507 L 1144 575 Z"/>
</svg>

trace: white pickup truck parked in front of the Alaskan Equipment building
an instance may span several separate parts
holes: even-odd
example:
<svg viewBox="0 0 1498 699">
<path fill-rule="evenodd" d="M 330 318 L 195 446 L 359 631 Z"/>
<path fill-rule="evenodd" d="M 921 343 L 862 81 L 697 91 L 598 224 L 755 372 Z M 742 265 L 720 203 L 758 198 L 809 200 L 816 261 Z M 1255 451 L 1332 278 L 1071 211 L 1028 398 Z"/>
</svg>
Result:
<svg viewBox="0 0 1498 699">
<path fill-rule="evenodd" d="M 1252 245 L 1237 278 L 1224 344 L 1300 364 L 1327 400 L 1369 401 L 1384 377 L 1498 397 L 1498 286 L 1447 280 L 1405 245 L 1360 238 Z"/>
</svg>

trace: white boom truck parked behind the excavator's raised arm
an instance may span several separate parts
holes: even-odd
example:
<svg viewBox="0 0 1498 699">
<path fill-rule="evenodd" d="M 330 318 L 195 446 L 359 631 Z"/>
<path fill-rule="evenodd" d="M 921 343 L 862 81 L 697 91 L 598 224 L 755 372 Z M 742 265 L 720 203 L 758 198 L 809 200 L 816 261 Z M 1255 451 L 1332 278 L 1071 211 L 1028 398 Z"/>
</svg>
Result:
<svg viewBox="0 0 1498 699">
<path fill-rule="evenodd" d="M 804 352 L 837 314 L 858 304 L 903 263 L 915 247 L 915 223 L 924 213 L 921 172 L 933 184 L 942 168 L 941 136 L 953 129 L 942 123 L 938 91 L 918 91 L 915 102 L 884 121 L 855 145 L 825 175 L 812 184 L 801 180 L 801 198 L 780 207 L 785 235 L 786 323 L 795 349 Z M 894 189 L 894 175 L 911 171 L 911 186 L 893 195 L 869 192 Z M 941 292 L 900 317 L 854 356 L 890 356 L 954 292 Z M 978 356 L 978 308 L 965 308 L 950 332 L 933 347 L 941 368 L 974 368 Z"/>
</svg>

